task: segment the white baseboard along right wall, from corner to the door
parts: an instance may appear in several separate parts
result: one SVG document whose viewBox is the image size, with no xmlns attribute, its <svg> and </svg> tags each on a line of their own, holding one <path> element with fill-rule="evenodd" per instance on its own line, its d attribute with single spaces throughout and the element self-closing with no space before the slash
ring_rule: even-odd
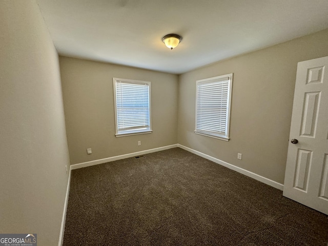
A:
<svg viewBox="0 0 328 246">
<path fill-rule="evenodd" d="M 232 165 L 232 164 L 230 164 L 230 163 L 228 163 L 226 161 L 219 160 L 217 158 L 214 158 L 214 157 L 209 156 L 207 154 L 204 154 L 204 153 L 201 153 L 199 151 L 193 150 L 193 149 L 188 148 L 186 146 L 183 146 L 183 145 L 179 145 L 178 144 L 177 147 L 179 147 L 179 148 L 181 148 L 183 150 L 187 150 L 187 151 L 189 151 L 189 152 L 191 152 L 193 154 L 199 155 L 199 156 L 201 156 L 203 158 L 206 158 L 208 160 L 211 160 L 211 161 L 213 161 L 213 162 L 215 162 L 215 163 L 217 163 L 217 164 L 219 164 L 219 165 L 221 165 L 223 167 L 229 168 L 229 169 L 234 170 L 234 171 L 236 171 L 238 173 L 241 173 L 241 174 L 246 175 L 248 177 L 254 178 L 254 179 L 256 179 L 256 180 L 258 180 L 258 181 L 260 181 L 262 183 L 265 183 L 265 184 L 267 184 L 269 186 L 272 186 L 274 188 L 277 188 L 277 189 L 279 189 L 281 191 L 283 190 L 283 185 L 281 183 L 278 183 L 276 181 L 273 181 L 273 180 L 271 180 L 269 178 L 265 178 L 263 176 L 260 176 L 260 175 L 258 175 L 256 173 L 253 173 L 253 172 L 250 172 L 250 171 L 245 170 L 243 168 L 239 168 L 239 167 L 234 166 L 234 165 Z"/>
</svg>

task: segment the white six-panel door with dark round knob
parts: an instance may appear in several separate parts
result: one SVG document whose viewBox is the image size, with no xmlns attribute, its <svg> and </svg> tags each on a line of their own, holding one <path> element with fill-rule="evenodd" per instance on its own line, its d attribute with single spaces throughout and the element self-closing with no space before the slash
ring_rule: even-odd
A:
<svg viewBox="0 0 328 246">
<path fill-rule="evenodd" d="M 328 56 L 297 65 L 283 195 L 328 214 Z"/>
</svg>

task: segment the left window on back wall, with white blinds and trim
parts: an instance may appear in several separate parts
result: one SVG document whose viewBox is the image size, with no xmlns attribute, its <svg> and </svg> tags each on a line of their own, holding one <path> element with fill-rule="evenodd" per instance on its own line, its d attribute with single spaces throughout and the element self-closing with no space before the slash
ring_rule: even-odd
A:
<svg viewBox="0 0 328 246">
<path fill-rule="evenodd" d="M 113 78 L 116 137 L 151 133 L 150 82 Z"/>
</svg>

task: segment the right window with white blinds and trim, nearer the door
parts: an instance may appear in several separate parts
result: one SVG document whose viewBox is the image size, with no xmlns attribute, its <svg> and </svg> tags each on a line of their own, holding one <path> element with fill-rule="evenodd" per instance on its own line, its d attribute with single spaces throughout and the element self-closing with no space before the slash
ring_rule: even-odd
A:
<svg viewBox="0 0 328 246">
<path fill-rule="evenodd" d="M 232 73 L 196 81 L 195 133 L 229 141 Z"/>
</svg>

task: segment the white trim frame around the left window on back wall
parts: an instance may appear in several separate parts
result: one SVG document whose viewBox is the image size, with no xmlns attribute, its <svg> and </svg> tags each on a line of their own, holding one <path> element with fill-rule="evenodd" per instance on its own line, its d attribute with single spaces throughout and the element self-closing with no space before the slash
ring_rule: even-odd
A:
<svg viewBox="0 0 328 246">
<path fill-rule="evenodd" d="M 117 81 L 125 81 L 132 84 L 147 84 L 149 86 L 149 129 L 145 130 L 127 130 L 127 131 L 118 131 L 117 125 L 117 104 L 116 104 L 116 82 Z M 114 89 L 114 110 L 115 110 L 115 136 L 116 137 L 124 137 L 124 136 L 132 136 L 139 134 L 149 134 L 152 133 L 152 120 L 151 120 L 151 83 L 149 81 L 141 81 L 135 79 L 125 79 L 125 78 L 113 78 L 113 89 Z"/>
</svg>

